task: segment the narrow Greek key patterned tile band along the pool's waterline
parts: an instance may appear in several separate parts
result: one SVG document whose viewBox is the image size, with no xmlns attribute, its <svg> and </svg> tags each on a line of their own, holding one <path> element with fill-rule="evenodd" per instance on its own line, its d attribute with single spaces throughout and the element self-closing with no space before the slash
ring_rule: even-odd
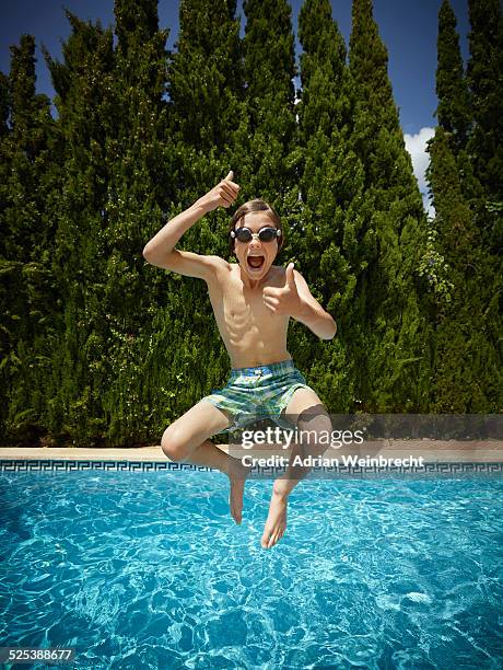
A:
<svg viewBox="0 0 503 670">
<path fill-rule="evenodd" d="M 85 460 L 67 460 L 67 459 L 4 459 L 0 460 L 0 472 L 27 472 L 27 471 L 50 471 L 50 472 L 69 472 L 80 470 L 107 470 L 107 471 L 128 471 L 128 472 L 151 472 L 159 470 L 168 470 L 174 472 L 180 471 L 199 471 L 199 472 L 215 472 L 211 467 L 203 465 L 192 465 L 190 463 L 172 463 L 169 461 L 85 461 Z M 284 472 L 281 467 L 254 467 L 252 477 L 273 477 Z M 387 466 L 339 466 L 331 467 L 314 467 L 312 476 L 316 478 L 343 478 L 343 477 L 361 477 L 369 478 L 373 476 L 453 476 L 453 475 L 503 475 L 503 462 L 501 463 L 425 463 L 422 467 L 412 466 L 405 467 L 403 465 L 387 465 Z"/>
</svg>

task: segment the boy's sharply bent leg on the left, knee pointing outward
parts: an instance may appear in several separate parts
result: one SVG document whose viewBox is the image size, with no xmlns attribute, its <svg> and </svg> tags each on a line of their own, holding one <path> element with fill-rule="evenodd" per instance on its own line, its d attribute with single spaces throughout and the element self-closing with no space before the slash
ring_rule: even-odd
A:
<svg viewBox="0 0 503 670">
<path fill-rule="evenodd" d="M 231 515 L 241 523 L 243 492 L 247 469 L 210 442 L 209 438 L 230 425 L 229 417 L 207 401 L 201 401 L 166 428 L 161 440 L 164 453 L 172 461 L 214 467 L 225 473 L 231 483 Z"/>
</svg>

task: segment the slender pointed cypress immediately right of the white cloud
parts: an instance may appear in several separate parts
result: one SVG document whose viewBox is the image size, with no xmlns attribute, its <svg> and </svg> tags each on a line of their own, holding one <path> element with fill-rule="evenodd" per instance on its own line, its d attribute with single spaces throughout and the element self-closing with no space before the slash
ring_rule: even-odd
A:
<svg viewBox="0 0 503 670">
<path fill-rule="evenodd" d="M 438 127 L 429 142 L 426 173 L 435 218 L 422 268 L 435 287 L 432 408 L 493 412 L 501 398 L 501 365 L 494 346 L 499 291 L 493 292 L 500 279 L 488 273 L 492 264 L 483 250 L 477 206 L 465 197 L 473 180 L 464 147 L 469 109 L 456 22 L 447 2 L 438 15 L 437 44 Z"/>
</svg>

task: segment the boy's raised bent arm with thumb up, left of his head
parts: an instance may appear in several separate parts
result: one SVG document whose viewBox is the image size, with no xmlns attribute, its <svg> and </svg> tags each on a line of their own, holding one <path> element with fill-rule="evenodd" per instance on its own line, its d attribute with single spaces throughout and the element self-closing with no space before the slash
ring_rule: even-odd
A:
<svg viewBox="0 0 503 670">
<path fill-rule="evenodd" d="M 232 181 L 231 171 L 214 188 L 209 190 L 191 207 L 168 221 L 143 249 L 143 257 L 148 263 L 174 270 L 188 277 L 209 279 L 222 258 L 218 256 L 201 256 L 190 252 L 178 251 L 175 245 L 182 235 L 199 221 L 206 213 L 217 207 L 230 207 L 237 197 L 239 186 Z"/>
</svg>

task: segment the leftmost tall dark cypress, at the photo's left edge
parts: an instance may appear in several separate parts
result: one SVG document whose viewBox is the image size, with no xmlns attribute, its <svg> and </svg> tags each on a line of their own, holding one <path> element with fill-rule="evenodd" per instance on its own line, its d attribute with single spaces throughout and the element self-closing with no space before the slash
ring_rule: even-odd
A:
<svg viewBox="0 0 503 670">
<path fill-rule="evenodd" d="M 55 160 L 49 101 L 35 90 L 35 39 L 11 47 L 1 81 L 0 421 L 4 440 L 44 432 L 46 377 L 54 339 L 54 228 L 48 213 Z"/>
</svg>

